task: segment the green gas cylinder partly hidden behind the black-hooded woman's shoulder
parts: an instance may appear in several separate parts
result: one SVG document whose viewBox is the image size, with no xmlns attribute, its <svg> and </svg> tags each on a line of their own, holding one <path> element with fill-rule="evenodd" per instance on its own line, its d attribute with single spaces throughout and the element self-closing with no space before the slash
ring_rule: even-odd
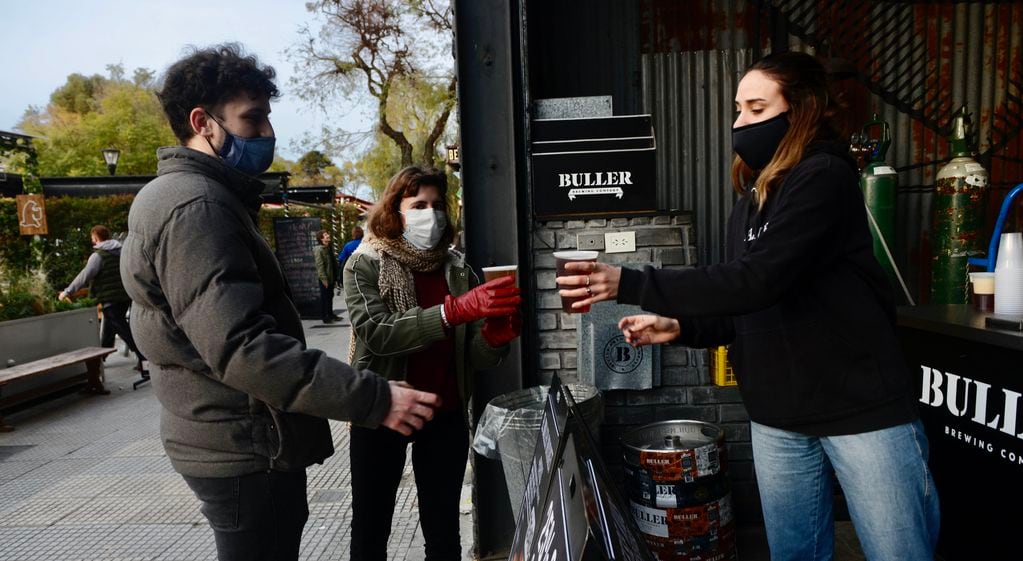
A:
<svg viewBox="0 0 1023 561">
<path fill-rule="evenodd" d="M 874 236 L 874 257 L 895 282 L 895 270 L 891 254 L 895 247 L 895 195 L 898 190 L 898 174 L 895 168 L 885 162 L 888 147 L 892 143 L 888 123 L 879 119 L 878 114 L 863 125 L 858 135 L 861 152 L 865 160 L 859 174 L 859 188 L 863 190 L 863 202 L 871 216 L 871 234 Z"/>
</svg>

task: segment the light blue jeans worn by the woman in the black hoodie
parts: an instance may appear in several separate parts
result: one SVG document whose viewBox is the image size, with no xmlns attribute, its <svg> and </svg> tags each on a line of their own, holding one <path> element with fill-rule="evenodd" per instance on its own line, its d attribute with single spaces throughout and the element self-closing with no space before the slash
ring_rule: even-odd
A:
<svg viewBox="0 0 1023 561">
<path fill-rule="evenodd" d="M 833 470 L 866 559 L 934 559 L 938 495 L 920 421 L 819 437 L 750 425 L 772 561 L 833 558 Z"/>
</svg>

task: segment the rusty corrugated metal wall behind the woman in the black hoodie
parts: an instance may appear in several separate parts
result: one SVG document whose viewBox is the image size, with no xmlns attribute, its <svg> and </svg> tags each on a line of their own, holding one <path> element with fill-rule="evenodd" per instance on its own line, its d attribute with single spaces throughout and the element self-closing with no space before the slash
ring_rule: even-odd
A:
<svg viewBox="0 0 1023 561">
<path fill-rule="evenodd" d="M 930 191 L 954 109 L 973 113 L 992 209 L 1023 181 L 1023 3 L 781 0 L 759 12 L 756 4 L 642 2 L 642 98 L 655 116 L 662 202 L 696 211 L 702 263 L 723 257 L 731 99 L 757 47 L 770 51 L 762 30 L 781 21 L 789 48 L 854 69 L 853 122 L 878 112 L 890 123 L 888 160 L 901 185 L 896 258 L 914 292 L 926 294 Z"/>
</svg>

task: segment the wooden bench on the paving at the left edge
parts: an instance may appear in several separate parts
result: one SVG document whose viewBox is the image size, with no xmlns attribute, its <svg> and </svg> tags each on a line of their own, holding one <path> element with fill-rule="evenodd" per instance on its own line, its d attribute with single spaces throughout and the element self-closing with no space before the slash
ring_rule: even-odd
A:
<svg viewBox="0 0 1023 561">
<path fill-rule="evenodd" d="M 0 370 L 0 398 L 3 397 L 4 386 L 10 382 L 33 378 L 82 362 L 85 363 L 85 374 L 18 394 L 17 401 L 25 401 L 57 389 L 71 387 L 81 383 L 83 380 L 85 381 L 85 388 L 82 390 L 82 393 L 95 395 L 108 394 L 110 392 L 103 387 L 103 358 L 116 350 L 106 347 L 85 347 Z M 3 399 L 0 399 L 0 405 L 6 404 L 9 403 L 5 403 Z M 12 430 L 14 430 L 14 427 L 5 424 L 3 422 L 3 415 L 0 413 L 0 432 L 10 432 Z"/>
</svg>

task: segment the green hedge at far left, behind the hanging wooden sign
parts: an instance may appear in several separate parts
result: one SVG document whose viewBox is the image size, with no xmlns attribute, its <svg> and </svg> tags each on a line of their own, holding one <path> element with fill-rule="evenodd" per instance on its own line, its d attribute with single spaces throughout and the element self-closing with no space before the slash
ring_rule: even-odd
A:
<svg viewBox="0 0 1023 561">
<path fill-rule="evenodd" d="M 49 234 L 20 235 L 13 199 L 0 199 L 0 284 L 41 271 L 40 285 L 59 292 L 75 278 L 92 253 L 89 229 L 103 224 L 114 235 L 128 230 L 131 196 L 46 200 Z"/>
</svg>

